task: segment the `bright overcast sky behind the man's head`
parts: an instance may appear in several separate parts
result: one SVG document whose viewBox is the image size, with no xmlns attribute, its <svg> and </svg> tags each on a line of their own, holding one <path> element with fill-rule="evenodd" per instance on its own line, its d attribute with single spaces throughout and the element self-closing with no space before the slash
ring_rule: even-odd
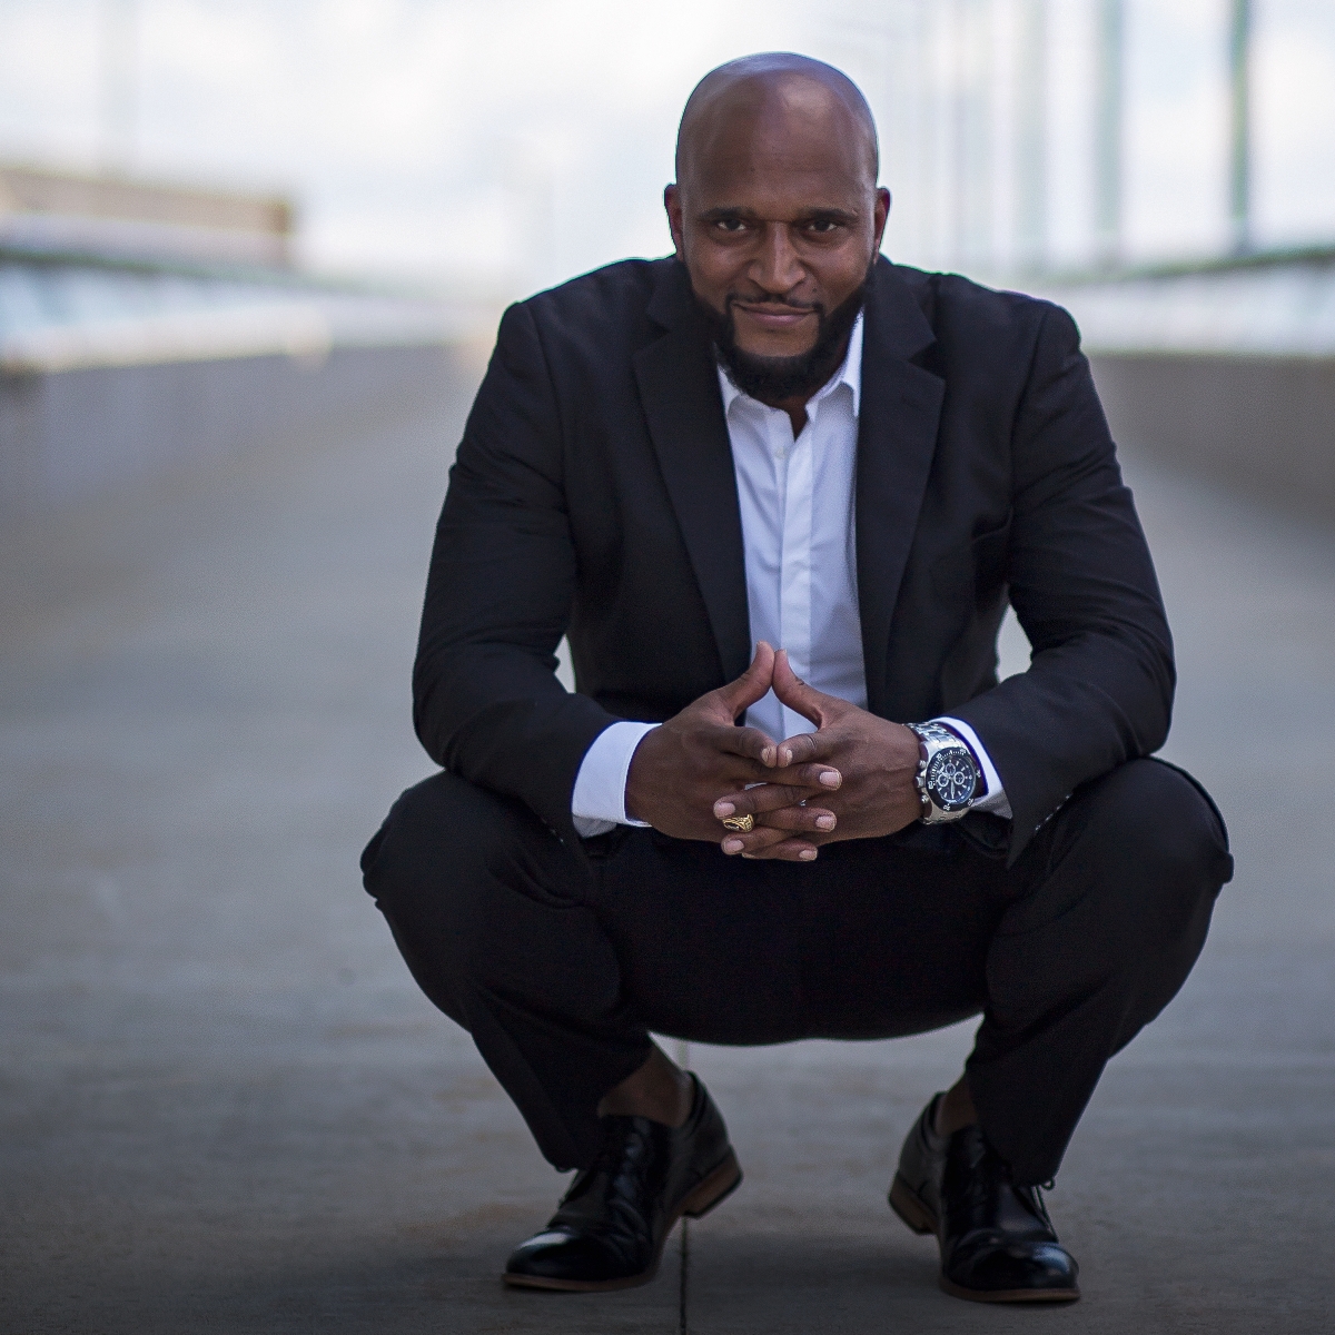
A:
<svg viewBox="0 0 1335 1335">
<path fill-rule="evenodd" d="M 1013 108 L 1033 77 L 1025 3 L 0 0 L 0 158 L 87 167 L 109 152 L 150 176 L 290 191 L 312 264 L 511 296 L 669 250 L 659 196 L 682 101 L 714 64 L 786 48 L 846 69 L 877 112 L 888 252 L 977 270 L 991 255 L 995 270 L 1013 248 Z M 1077 264 L 1096 0 L 1047 9 L 1047 248 Z M 1258 238 L 1335 242 L 1335 0 L 1255 9 Z M 1227 11 L 1127 0 L 1131 258 L 1227 242 Z M 116 15 L 134 17 L 131 143 L 103 109 Z M 976 206 L 963 224 L 961 152 Z"/>
</svg>

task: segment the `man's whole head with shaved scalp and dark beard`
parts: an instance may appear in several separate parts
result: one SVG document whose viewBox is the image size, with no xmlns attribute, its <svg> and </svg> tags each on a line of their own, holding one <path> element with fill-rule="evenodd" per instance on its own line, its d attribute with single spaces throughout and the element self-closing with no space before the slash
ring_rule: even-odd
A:
<svg viewBox="0 0 1335 1335">
<path fill-rule="evenodd" d="M 801 400 L 842 358 L 890 207 L 876 175 L 872 112 L 818 60 L 746 56 L 690 95 L 668 223 L 729 374 L 762 402 Z"/>
</svg>

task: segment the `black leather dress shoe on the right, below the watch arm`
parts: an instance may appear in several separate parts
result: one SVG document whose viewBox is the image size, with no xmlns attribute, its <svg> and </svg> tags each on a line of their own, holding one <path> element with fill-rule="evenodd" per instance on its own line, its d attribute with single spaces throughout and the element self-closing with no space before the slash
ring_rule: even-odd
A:
<svg viewBox="0 0 1335 1335">
<path fill-rule="evenodd" d="M 983 1128 L 936 1133 L 937 1095 L 904 1141 L 890 1208 L 936 1234 L 941 1288 L 977 1303 L 1071 1303 L 1080 1267 L 1057 1242 L 1037 1187 L 1016 1187 Z"/>
</svg>

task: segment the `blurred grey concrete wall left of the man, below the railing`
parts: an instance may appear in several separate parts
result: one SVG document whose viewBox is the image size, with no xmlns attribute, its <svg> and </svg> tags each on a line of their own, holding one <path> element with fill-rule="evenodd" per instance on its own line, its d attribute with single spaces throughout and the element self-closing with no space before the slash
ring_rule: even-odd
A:
<svg viewBox="0 0 1335 1335">
<path fill-rule="evenodd" d="M 0 521 L 451 391 L 442 347 L 0 376 Z M 449 442 L 454 445 L 454 442 Z"/>
</svg>

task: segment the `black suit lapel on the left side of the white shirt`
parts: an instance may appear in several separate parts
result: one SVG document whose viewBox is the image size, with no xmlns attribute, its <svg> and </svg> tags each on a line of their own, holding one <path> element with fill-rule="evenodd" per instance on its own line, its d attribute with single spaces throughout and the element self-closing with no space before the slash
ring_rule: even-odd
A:
<svg viewBox="0 0 1335 1335">
<path fill-rule="evenodd" d="M 742 519 L 709 332 L 681 264 L 665 271 L 649 315 L 669 327 L 634 354 L 639 399 L 724 680 L 732 681 L 750 662 Z"/>
</svg>

